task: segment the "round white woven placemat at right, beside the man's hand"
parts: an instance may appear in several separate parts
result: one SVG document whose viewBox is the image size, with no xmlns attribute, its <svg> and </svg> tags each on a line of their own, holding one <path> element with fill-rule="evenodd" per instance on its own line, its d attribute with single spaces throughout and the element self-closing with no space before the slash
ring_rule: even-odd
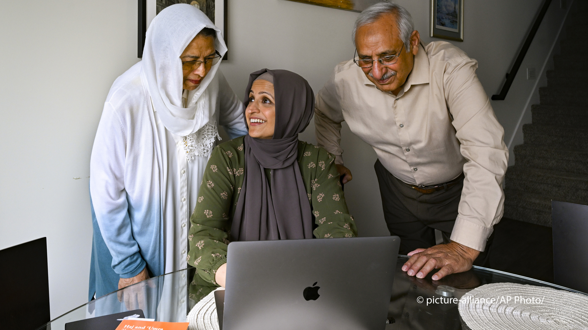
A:
<svg viewBox="0 0 588 330">
<path fill-rule="evenodd" d="M 588 296 L 514 283 L 486 284 L 459 301 L 471 330 L 588 330 Z"/>
</svg>

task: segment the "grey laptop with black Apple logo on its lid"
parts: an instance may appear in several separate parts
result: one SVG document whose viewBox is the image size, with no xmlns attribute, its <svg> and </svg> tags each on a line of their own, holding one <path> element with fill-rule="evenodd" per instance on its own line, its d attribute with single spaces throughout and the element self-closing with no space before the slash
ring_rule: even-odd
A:
<svg viewBox="0 0 588 330">
<path fill-rule="evenodd" d="M 223 330 L 383 330 L 400 238 L 229 244 Z"/>
</svg>

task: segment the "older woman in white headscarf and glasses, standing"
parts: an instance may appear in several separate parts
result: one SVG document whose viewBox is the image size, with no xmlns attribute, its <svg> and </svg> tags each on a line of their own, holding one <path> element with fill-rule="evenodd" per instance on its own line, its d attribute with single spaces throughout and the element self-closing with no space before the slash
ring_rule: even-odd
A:
<svg viewBox="0 0 588 330">
<path fill-rule="evenodd" d="M 113 83 L 90 164 L 89 298 L 186 268 L 189 217 L 217 125 L 247 133 L 242 103 L 219 70 L 226 46 L 194 6 L 153 19 L 143 60 Z"/>
</svg>

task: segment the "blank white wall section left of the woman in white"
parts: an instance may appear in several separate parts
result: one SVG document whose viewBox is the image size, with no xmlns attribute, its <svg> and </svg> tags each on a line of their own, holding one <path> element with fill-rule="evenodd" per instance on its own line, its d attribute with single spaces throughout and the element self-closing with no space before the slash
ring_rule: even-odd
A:
<svg viewBox="0 0 588 330">
<path fill-rule="evenodd" d="M 88 299 L 90 151 L 136 22 L 136 0 L 2 1 L 0 249 L 47 237 L 52 318 Z"/>
</svg>

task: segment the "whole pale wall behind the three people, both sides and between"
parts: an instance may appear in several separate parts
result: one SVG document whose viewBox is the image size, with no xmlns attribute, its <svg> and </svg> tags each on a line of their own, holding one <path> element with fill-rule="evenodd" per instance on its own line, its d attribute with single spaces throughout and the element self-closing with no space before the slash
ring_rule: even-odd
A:
<svg viewBox="0 0 588 330">
<path fill-rule="evenodd" d="M 479 60 L 489 95 L 499 92 L 540 2 L 466 2 L 466 41 L 455 44 Z M 423 41 L 432 41 L 429 0 L 398 3 Z M 240 97 L 249 73 L 261 68 L 293 70 L 318 92 L 336 63 L 351 58 L 357 15 L 285 0 L 229 0 L 223 72 Z M 89 156 L 109 87 L 138 60 L 136 17 L 135 0 L 2 2 L 0 249 L 48 238 L 52 318 L 87 299 Z M 520 111 L 497 115 L 506 128 Z M 301 138 L 315 142 L 313 125 Z M 360 234 L 385 235 L 375 153 L 346 126 L 342 144 L 354 175 L 346 197 Z"/>
</svg>

